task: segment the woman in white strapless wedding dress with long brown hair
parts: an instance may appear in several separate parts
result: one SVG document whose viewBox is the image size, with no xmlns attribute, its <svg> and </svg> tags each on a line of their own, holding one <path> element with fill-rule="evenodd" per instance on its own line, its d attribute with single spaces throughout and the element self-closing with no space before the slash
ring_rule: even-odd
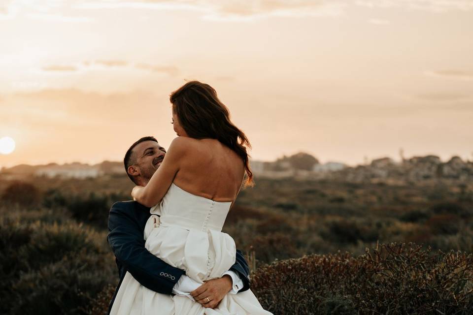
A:
<svg viewBox="0 0 473 315">
<path fill-rule="evenodd" d="M 170 102 L 178 137 L 146 187 L 136 186 L 132 196 L 154 206 L 145 226 L 146 249 L 203 284 L 235 263 L 235 242 L 221 230 L 245 173 L 244 185 L 252 184 L 250 143 L 209 85 L 188 82 Z M 271 315 L 251 290 L 227 294 L 215 309 L 203 306 L 213 298 L 207 294 L 157 293 L 127 272 L 110 314 Z"/>
</svg>

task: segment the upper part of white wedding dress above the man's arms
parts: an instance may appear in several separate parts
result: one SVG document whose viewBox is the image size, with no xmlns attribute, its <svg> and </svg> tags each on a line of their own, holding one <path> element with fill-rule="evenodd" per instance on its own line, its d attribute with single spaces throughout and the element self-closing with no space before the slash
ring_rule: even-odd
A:
<svg viewBox="0 0 473 315">
<path fill-rule="evenodd" d="M 222 277 L 236 259 L 235 241 L 222 232 L 231 205 L 172 183 L 163 200 L 150 209 L 144 228 L 146 249 L 196 281 Z"/>
</svg>

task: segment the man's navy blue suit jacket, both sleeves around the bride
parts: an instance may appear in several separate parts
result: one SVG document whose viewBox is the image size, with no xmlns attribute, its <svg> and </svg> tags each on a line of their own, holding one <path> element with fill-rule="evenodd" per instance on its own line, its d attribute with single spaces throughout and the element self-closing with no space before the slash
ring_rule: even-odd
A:
<svg viewBox="0 0 473 315">
<path fill-rule="evenodd" d="M 127 271 L 140 284 L 163 294 L 172 294 L 172 288 L 185 274 L 183 270 L 170 266 L 144 247 L 144 226 L 149 217 L 149 208 L 136 201 L 116 202 L 110 209 L 107 241 L 115 254 L 120 282 L 113 294 L 108 313 Z M 236 262 L 230 270 L 236 272 L 243 281 L 240 291 L 249 289 L 248 264 L 238 250 Z M 174 276 L 174 280 L 170 276 L 162 276 L 163 274 Z"/>
</svg>

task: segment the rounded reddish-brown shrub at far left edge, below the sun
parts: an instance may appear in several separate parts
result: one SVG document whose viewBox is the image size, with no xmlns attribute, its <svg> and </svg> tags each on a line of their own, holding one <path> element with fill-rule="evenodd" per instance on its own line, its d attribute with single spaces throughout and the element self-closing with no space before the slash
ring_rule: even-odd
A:
<svg viewBox="0 0 473 315">
<path fill-rule="evenodd" d="M 25 207 L 37 205 L 41 194 L 33 184 L 24 182 L 12 182 L 3 191 L 1 199 L 5 202 L 18 204 Z"/>
</svg>

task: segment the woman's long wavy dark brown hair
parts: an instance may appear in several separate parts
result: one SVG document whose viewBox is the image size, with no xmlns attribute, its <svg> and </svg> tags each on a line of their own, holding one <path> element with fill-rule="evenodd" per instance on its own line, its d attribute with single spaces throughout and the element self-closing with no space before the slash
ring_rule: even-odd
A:
<svg viewBox="0 0 473 315">
<path fill-rule="evenodd" d="M 230 120 L 228 108 L 218 99 L 215 89 L 199 81 L 190 81 L 172 92 L 169 100 L 172 112 L 189 137 L 217 139 L 243 159 L 247 175 L 245 186 L 252 185 L 253 172 L 246 152 L 251 144 Z"/>
</svg>

